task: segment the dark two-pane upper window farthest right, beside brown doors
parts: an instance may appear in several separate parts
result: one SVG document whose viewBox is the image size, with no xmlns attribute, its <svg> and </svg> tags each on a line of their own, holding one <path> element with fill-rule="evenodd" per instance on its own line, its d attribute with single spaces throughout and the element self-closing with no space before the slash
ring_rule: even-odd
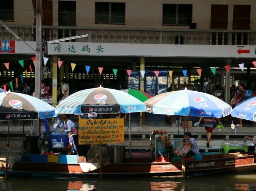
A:
<svg viewBox="0 0 256 191">
<path fill-rule="evenodd" d="M 163 25 L 190 25 L 191 4 L 163 4 Z"/>
</svg>

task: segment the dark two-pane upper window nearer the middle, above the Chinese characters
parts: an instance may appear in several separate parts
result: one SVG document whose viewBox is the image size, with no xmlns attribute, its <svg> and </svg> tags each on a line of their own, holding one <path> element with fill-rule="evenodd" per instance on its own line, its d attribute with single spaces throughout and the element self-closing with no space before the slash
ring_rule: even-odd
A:
<svg viewBox="0 0 256 191">
<path fill-rule="evenodd" d="M 95 2 L 96 24 L 125 24 L 125 3 Z"/>
</svg>

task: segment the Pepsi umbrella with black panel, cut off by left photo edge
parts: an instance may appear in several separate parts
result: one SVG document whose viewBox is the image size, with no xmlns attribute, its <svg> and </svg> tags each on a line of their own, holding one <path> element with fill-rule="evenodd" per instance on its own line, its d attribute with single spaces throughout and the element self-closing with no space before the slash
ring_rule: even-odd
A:
<svg viewBox="0 0 256 191">
<path fill-rule="evenodd" d="M 55 108 L 30 95 L 0 93 L 0 120 L 33 120 L 55 116 Z"/>
</svg>

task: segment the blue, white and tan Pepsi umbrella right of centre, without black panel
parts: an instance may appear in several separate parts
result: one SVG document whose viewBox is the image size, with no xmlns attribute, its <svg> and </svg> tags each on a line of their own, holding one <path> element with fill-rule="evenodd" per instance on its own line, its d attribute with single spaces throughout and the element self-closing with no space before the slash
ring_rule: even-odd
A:
<svg viewBox="0 0 256 191">
<path fill-rule="evenodd" d="M 219 98 L 187 89 L 162 93 L 144 103 L 146 112 L 154 114 L 221 118 L 232 112 L 232 107 Z"/>
</svg>

